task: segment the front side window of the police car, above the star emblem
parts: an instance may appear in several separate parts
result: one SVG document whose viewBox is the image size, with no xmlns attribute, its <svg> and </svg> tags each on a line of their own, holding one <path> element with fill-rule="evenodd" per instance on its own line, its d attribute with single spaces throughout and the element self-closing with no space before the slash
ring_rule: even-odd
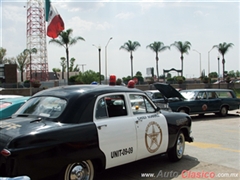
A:
<svg viewBox="0 0 240 180">
<path fill-rule="evenodd" d="M 138 94 L 129 95 L 133 114 L 153 113 L 155 108 L 145 96 Z"/>
</svg>

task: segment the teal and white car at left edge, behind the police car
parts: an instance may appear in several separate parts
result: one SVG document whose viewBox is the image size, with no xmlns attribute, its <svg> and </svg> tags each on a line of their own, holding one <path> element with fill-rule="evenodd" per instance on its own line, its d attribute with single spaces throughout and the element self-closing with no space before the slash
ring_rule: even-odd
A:
<svg viewBox="0 0 240 180">
<path fill-rule="evenodd" d="M 31 96 L 8 98 L 0 100 L 0 120 L 14 114 Z"/>
</svg>

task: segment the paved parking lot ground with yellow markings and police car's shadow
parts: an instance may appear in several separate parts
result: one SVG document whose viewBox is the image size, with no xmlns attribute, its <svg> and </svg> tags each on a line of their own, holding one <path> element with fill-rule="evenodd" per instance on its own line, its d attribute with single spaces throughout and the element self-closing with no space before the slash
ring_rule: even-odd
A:
<svg viewBox="0 0 240 180">
<path fill-rule="evenodd" d="M 172 163 L 156 156 L 97 174 L 95 180 L 155 179 L 240 179 L 240 114 L 227 117 L 207 114 L 192 116 L 193 143 L 186 143 L 185 155 Z"/>
</svg>

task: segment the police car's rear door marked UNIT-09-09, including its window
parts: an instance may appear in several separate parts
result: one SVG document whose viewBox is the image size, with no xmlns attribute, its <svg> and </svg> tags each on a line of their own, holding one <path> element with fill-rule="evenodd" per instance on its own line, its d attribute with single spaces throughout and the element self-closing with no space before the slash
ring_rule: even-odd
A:
<svg viewBox="0 0 240 180">
<path fill-rule="evenodd" d="M 124 93 L 106 94 L 98 97 L 95 104 L 94 122 L 106 168 L 136 160 L 135 121 L 129 115 L 125 96 Z"/>
</svg>

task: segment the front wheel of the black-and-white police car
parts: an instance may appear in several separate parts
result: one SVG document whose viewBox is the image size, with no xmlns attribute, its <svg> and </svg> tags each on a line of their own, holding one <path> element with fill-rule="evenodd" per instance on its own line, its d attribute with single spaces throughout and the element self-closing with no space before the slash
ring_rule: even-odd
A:
<svg viewBox="0 0 240 180">
<path fill-rule="evenodd" d="M 185 137 L 182 131 L 179 132 L 173 148 L 168 151 L 170 161 L 179 161 L 183 157 L 185 149 Z"/>
</svg>

